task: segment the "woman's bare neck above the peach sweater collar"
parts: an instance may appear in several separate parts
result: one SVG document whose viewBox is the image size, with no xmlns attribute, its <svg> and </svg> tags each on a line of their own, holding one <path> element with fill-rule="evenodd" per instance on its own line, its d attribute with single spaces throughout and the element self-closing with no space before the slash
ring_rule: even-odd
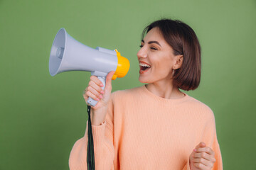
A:
<svg viewBox="0 0 256 170">
<path fill-rule="evenodd" d="M 183 98 L 184 94 L 179 91 L 178 86 L 174 85 L 173 80 L 171 81 L 156 81 L 151 84 L 146 84 L 152 94 L 166 99 Z"/>
</svg>

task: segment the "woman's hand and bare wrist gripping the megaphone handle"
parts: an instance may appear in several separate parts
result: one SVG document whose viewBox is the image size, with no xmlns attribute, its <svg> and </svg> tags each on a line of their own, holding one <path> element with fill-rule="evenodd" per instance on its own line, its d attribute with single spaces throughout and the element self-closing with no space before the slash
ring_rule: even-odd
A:
<svg viewBox="0 0 256 170">
<path fill-rule="evenodd" d="M 110 101 L 110 95 L 112 91 L 111 81 L 113 74 L 114 71 L 107 74 L 104 91 L 102 91 L 101 89 L 102 82 L 95 76 L 90 77 L 89 84 L 84 91 L 85 93 L 83 94 L 83 97 L 85 98 L 86 103 L 89 97 L 94 99 L 95 101 L 98 101 L 95 106 L 91 106 L 92 125 L 100 125 L 105 120 L 105 117 L 107 115 L 108 103 Z"/>
</svg>

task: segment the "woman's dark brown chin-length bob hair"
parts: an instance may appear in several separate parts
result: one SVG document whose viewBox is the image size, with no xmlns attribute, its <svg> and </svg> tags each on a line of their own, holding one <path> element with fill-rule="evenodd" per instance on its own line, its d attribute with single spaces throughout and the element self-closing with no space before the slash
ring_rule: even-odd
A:
<svg viewBox="0 0 256 170">
<path fill-rule="evenodd" d="M 174 70 L 174 83 L 185 91 L 196 89 L 201 79 L 201 46 L 196 33 L 182 21 L 163 18 L 144 28 L 142 40 L 145 33 L 155 27 L 172 47 L 174 55 L 183 55 L 181 68 Z"/>
</svg>

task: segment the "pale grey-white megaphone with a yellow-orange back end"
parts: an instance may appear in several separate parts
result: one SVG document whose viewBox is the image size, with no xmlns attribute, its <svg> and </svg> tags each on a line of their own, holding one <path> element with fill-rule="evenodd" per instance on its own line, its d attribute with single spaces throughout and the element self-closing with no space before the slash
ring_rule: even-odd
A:
<svg viewBox="0 0 256 170">
<path fill-rule="evenodd" d="M 98 77 L 105 89 L 106 76 L 115 71 L 112 79 L 124 77 L 129 71 L 129 60 L 117 50 L 102 47 L 88 47 L 72 38 L 64 28 L 55 35 L 50 50 L 49 71 L 51 76 L 60 72 L 86 71 Z M 88 104 L 95 106 L 97 101 L 88 98 Z"/>
</svg>

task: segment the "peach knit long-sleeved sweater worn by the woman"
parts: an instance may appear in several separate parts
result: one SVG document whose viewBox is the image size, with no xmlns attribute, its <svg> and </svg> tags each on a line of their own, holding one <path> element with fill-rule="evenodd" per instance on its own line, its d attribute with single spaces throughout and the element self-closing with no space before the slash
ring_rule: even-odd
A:
<svg viewBox="0 0 256 170">
<path fill-rule="evenodd" d="M 189 170 L 189 156 L 200 142 L 215 152 L 213 170 L 223 169 L 213 111 L 188 94 L 166 99 L 145 86 L 115 91 L 105 121 L 92 125 L 92 135 L 97 170 Z M 69 166 L 87 169 L 87 126 Z"/>
</svg>

